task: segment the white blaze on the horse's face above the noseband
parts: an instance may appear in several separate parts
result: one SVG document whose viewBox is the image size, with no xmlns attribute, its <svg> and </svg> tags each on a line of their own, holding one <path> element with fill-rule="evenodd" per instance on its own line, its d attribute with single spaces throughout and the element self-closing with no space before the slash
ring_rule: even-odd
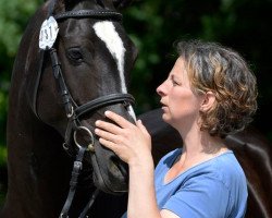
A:
<svg viewBox="0 0 272 218">
<path fill-rule="evenodd" d="M 125 48 L 112 22 L 101 21 L 94 25 L 96 35 L 106 44 L 118 64 L 122 93 L 127 93 L 124 77 Z"/>
</svg>

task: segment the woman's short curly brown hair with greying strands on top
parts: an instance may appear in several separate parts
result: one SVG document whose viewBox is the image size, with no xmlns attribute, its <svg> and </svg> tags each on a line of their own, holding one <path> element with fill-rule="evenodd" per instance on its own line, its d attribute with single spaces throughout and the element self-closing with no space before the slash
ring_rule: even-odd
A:
<svg viewBox="0 0 272 218">
<path fill-rule="evenodd" d="M 215 95 L 213 107 L 200 112 L 201 130 L 220 137 L 244 130 L 257 110 L 257 82 L 246 61 L 215 43 L 177 41 L 175 46 L 193 89 Z"/>
</svg>

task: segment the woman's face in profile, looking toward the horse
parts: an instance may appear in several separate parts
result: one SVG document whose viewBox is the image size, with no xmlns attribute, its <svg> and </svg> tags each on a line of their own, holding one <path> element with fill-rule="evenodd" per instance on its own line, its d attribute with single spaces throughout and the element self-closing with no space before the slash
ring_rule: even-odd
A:
<svg viewBox="0 0 272 218">
<path fill-rule="evenodd" d="M 190 129 L 197 124 L 203 95 L 195 94 L 190 87 L 184 60 L 178 58 L 168 78 L 157 88 L 161 96 L 162 119 L 175 129 Z"/>
</svg>

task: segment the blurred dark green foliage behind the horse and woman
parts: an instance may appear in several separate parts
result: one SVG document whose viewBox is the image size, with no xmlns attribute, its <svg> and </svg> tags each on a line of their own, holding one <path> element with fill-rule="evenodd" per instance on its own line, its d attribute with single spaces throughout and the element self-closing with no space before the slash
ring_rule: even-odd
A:
<svg viewBox="0 0 272 218">
<path fill-rule="evenodd" d="M 0 0 L 0 202 L 7 190 L 5 123 L 10 77 L 28 19 L 41 0 Z M 259 84 L 254 125 L 272 141 L 272 1 L 271 0 L 135 0 L 123 11 L 124 25 L 139 55 L 131 93 L 141 113 L 158 107 L 156 87 L 173 65 L 176 39 L 215 40 L 239 51 Z"/>
</svg>

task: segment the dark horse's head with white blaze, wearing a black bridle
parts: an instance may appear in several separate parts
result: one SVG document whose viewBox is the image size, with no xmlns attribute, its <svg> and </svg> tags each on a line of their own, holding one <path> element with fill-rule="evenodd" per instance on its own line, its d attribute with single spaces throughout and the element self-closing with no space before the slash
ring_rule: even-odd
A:
<svg viewBox="0 0 272 218">
<path fill-rule="evenodd" d="M 132 122 L 135 120 L 127 84 L 137 52 L 123 28 L 121 14 L 116 13 L 116 8 L 125 3 L 127 1 L 47 2 L 37 26 L 50 15 L 57 20 L 59 33 L 54 49 L 39 51 L 36 36 L 32 41 L 36 58 L 29 60 L 29 64 L 39 62 L 28 85 L 33 112 L 62 135 L 64 148 L 73 156 L 78 147 L 91 144 L 85 153 L 84 166 L 94 169 L 96 186 L 109 193 L 127 190 L 127 167 L 99 144 L 94 123 L 106 119 L 106 110 Z M 48 15 L 50 10 L 52 14 Z M 55 59 L 51 61 L 52 57 Z M 52 65 L 57 65 L 54 72 Z"/>
</svg>

